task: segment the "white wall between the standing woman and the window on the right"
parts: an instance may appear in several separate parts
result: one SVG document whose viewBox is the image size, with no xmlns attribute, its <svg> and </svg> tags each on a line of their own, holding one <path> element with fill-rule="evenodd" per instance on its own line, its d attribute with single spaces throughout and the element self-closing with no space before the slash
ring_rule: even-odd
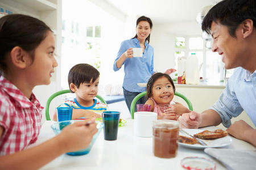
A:
<svg viewBox="0 0 256 170">
<path fill-rule="evenodd" d="M 150 44 L 155 50 L 155 70 L 164 72 L 175 67 L 175 37 L 200 36 L 202 33 L 197 22 L 177 22 L 154 24 L 150 36 Z"/>
</svg>

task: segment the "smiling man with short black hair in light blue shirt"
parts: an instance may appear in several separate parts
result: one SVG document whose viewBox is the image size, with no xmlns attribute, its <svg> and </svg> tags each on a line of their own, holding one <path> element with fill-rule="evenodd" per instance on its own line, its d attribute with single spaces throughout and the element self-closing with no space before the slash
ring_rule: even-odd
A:
<svg viewBox="0 0 256 170">
<path fill-rule="evenodd" d="M 256 125 L 256 1 L 224 0 L 213 6 L 202 23 L 213 37 L 212 51 L 234 73 L 218 101 L 207 111 L 184 113 L 181 126 L 199 128 L 222 124 L 229 134 L 256 146 L 256 129 L 231 118 L 245 111 Z"/>
</svg>

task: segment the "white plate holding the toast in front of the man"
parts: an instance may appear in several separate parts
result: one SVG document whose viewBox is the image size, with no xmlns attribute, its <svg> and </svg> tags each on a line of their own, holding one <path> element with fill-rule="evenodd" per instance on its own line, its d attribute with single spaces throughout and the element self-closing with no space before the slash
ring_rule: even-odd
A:
<svg viewBox="0 0 256 170">
<path fill-rule="evenodd" d="M 187 133 L 194 135 L 196 133 L 200 133 L 201 131 L 204 131 L 203 129 L 183 129 L 185 131 L 187 131 Z M 180 132 L 179 135 L 183 135 L 185 137 L 189 137 L 187 134 L 183 134 L 182 132 Z M 232 138 L 230 138 L 229 136 L 223 137 L 223 138 L 218 138 L 218 139 L 212 139 L 212 140 L 203 140 L 205 143 L 207 143 L 207 146 L 203 146 L 200 144 L 187 144 L 187 143 L 181 143 L 179 142 L 180 146 L 184 146 L 184 147 L 190 147 L 190 148 L 196 148 L 196 149 L 203 149 L 203 148 L 207 148 L 207 147 L 224 147 L 224 146 L 228 146 L 232 143 Z"/>
</svg>

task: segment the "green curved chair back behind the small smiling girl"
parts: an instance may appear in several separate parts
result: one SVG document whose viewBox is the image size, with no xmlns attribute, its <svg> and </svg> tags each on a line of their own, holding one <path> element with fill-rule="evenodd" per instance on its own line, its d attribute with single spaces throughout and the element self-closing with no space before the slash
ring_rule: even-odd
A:
<svg viewBox="0 0 256 170">
<path fill-rule="evenodd" d="M 141 92 L 140 94 L 138 94 L 137 96 L 134 97 L 133 101 L 131 101 L 131 118 L 133 119 L 134 118 L 134 109 L 135 109 L 135 104 L 137 103 L 137 101 L 139 99 L 141 99 L 141 97 L 143 96 L 146 96 L 147 95 L 147 92 L 144 91 L 144 92 Z M 179 96 L 181 97 L 182 99 L 185 100 L 185 102 L 188 104 L 188 108 L 189 110 L 193 111 L 193 107 L 192 107 L 192 104 L 191 102 L 187 99 L 187 97 L 185 97 L 183 94 L 179 93 L 179 92 L 175 92 L 174 93 L 175 96 Z"/>
</svg>

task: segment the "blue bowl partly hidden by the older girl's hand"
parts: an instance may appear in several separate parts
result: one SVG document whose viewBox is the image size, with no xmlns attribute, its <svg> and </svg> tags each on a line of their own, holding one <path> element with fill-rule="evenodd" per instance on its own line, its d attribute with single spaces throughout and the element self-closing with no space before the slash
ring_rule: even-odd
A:
<svg viewBox="0 0 256 170">
<path fill-rule="evenodd" d="M 77 122 L 79 120 L 68 120 L 68 121 L 61 121 L 61 122 L 56 122 L 54 124 L 51 125 L 52 130 L 54 131 L 54 133 L 57 135 L 61 132 L 61 130 L 70 124 L 73 124 L 74 122 Z M 97 129 L 98 132 L 96 134 L 94 134 L 93 138 L 92 138 L 92 142 L 90 142 L 90 145 L 82 150 L 79 151 L 75 151 L 75 152 L 68 152 L 68 155 L 72 155 L 72 156 L 77 156 L 77 155 L 85 155 L 88 154 L 90 152 L 90 149 L 93 146 L 93 143 L 96 141 L 98 135 L 100 134 L 102 128 L 104 127 L 104 124 L 102 124 L 102 122 L 96 121 L 97 124 Z"/>
</svg>

